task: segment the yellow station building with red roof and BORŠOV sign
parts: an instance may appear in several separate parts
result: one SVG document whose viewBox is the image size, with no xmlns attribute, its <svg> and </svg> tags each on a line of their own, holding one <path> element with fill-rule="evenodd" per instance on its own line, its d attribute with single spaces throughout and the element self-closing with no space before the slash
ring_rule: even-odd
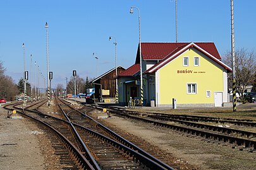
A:
<svg viewBox="0 0 256 170">
<path fill-rule="evenodd" d="M 135 64 L 118 75 L 119 103 L 140 99 L 140 49 Z M 228 72 L 212 42 L 142 43 L 143 105 L 223 106 Z"/>
</svg>

